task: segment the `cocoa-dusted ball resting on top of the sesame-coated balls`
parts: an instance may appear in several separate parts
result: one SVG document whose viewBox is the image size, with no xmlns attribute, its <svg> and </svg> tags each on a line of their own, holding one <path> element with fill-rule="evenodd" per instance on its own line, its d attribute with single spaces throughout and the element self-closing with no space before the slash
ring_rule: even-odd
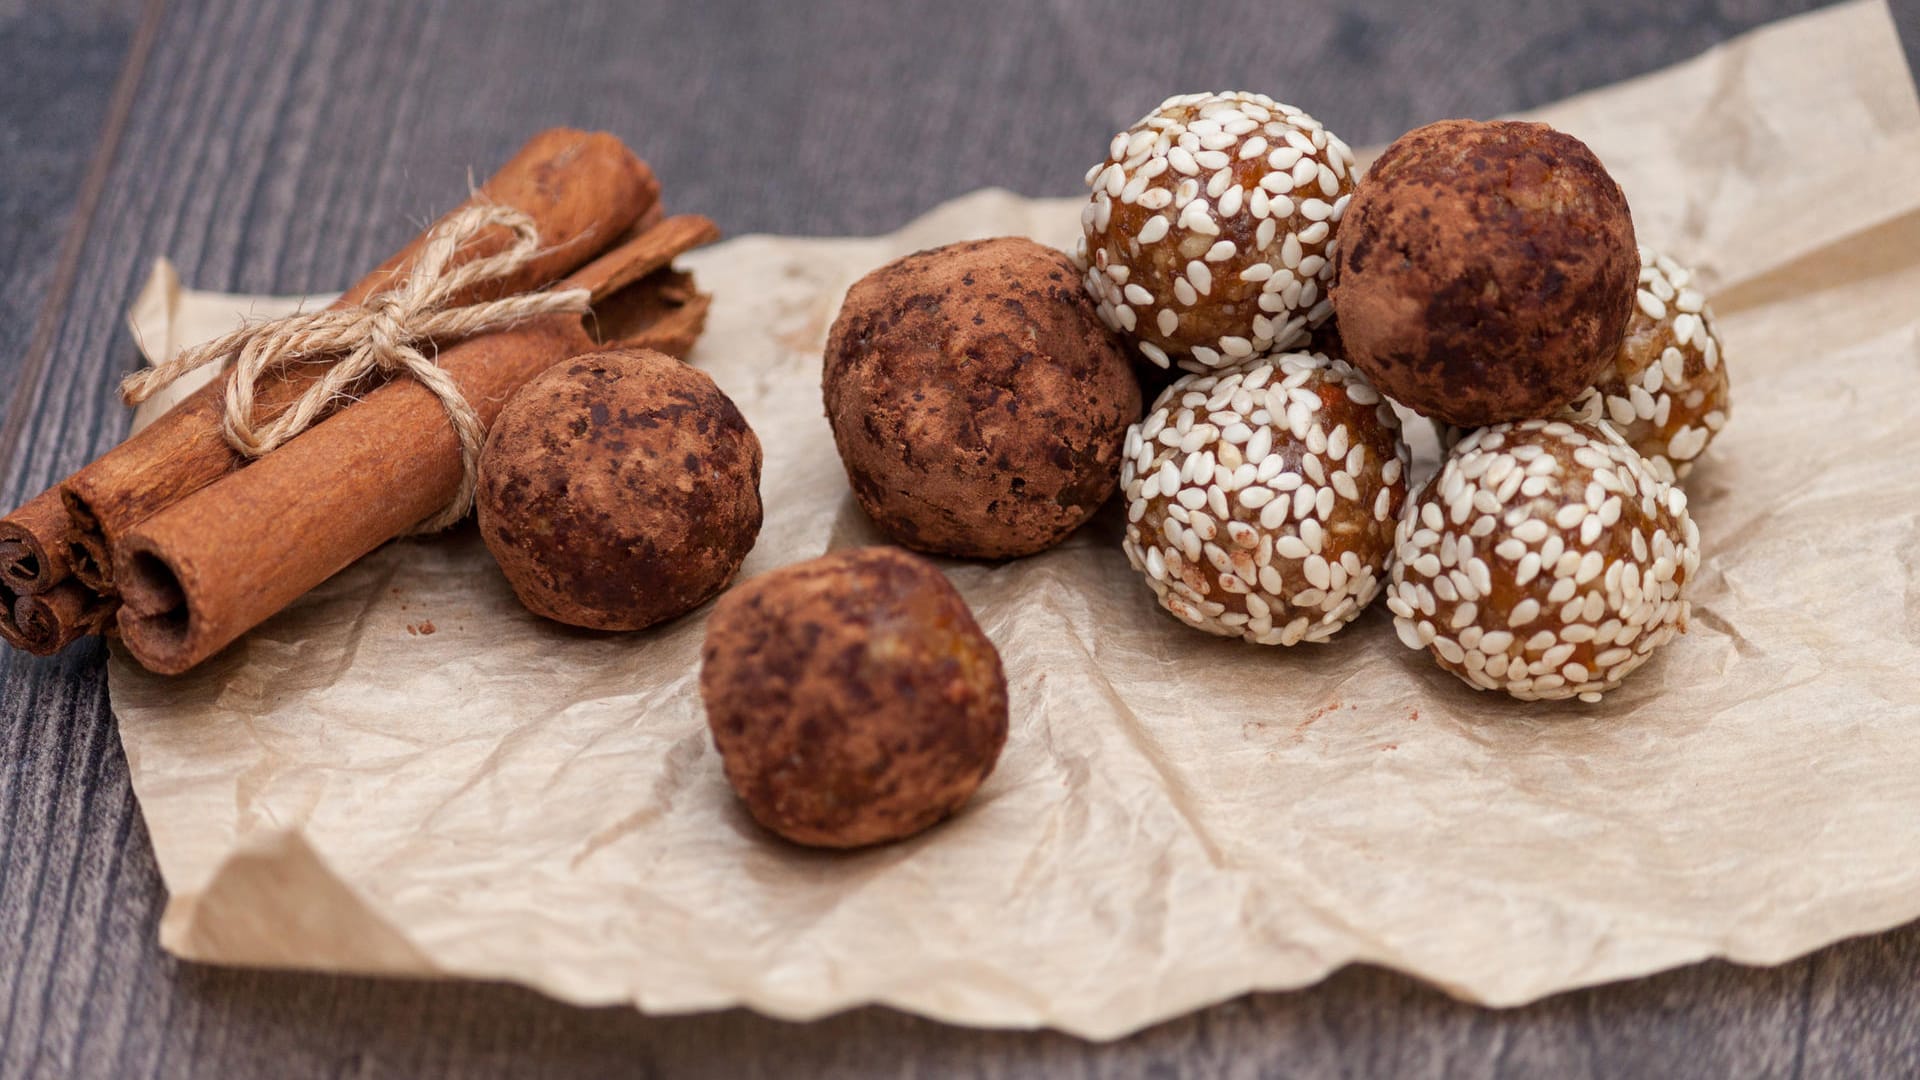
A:
<svg viewBox="0 0 1920 1080">
<path fill-rule="evenodd" d="M 1448 119 L 1380 154 L 1340 227 L 1348 359 L 1457 427 L 1546 417 L 1592 386 L 1634 306 L 1626 196 L 1544 123 Z"/>
</svg>

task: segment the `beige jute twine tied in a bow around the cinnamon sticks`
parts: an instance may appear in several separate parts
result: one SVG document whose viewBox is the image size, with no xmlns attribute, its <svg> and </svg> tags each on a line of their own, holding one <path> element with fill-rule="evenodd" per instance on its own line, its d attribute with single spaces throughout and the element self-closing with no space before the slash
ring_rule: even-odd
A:
<svg viewBox="0 0 1920 1080">
<path fill-rule="evenodd" d="M 511 242 L 493 256 L 457 261 L 488 229 L 501 227 Z M 227 413 L 221 430 L 228 446 L 246 457 L 259 457 L 284 446 L 296 434 L 326 417 L 334 402 L 351 398 L 371 377 L 407 375 L 426 386 L 447 411 L 461 440 L 461 486 L 453 502 L 420 532 L 436 532 L 467 515 L 474 500 L 480 446 L 486 429 L 459 384 L 420 352 L 434 340 L 465 338 L 497 331 L 534 315 L 580 313 L 588 309 L 584 288 L 561 292 L 520 292 L 499 300 L 453 306 L 463 292 L 511 277 L 540 252 L 540 231 L 532 217 L 511 206 L 468 206 L 440 221 L 426 234 L 413 269 L 394 288 L 349 307 L 301 311 L 284 319 L 252 323 L 238 331 L 182 350 L 173 359 L 129 375 L 121 398 L 136 405 L 188 371 L 209 363 L 228 367 Z M 261 379 L 271 379 L 296 363 L 334 359 L 326 371 L 280 415 L 267 423 L 253 417 Z"/>
</svg>

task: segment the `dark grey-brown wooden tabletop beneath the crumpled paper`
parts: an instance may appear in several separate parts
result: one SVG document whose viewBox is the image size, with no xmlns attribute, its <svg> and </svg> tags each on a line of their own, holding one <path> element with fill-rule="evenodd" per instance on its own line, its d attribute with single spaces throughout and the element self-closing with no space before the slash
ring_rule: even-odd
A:
<svg viewBox="0 0 1920 1080">
<path fill-rule="evenodd" d="M 1175 90 L 1260 88 L 1384 142 L 1803 6 L 0 0 L 0 502 L 121 438 L 121 311 L 150 259 L 209 288 L 340 288 L 538 127 L 622 135 L 676 209 L 733 234 L 887 231 L 983 184 L 1077 192 Z M 1920 0 L 1895 8 L 1912 58 Z M 1920 926 L 1503 1013 L 1350 969 L 1112 1045 L 186 965 L 156 945 L 102 655 L 0 655 L 4 1076 L 1920 1074 Z"/>
</svg>

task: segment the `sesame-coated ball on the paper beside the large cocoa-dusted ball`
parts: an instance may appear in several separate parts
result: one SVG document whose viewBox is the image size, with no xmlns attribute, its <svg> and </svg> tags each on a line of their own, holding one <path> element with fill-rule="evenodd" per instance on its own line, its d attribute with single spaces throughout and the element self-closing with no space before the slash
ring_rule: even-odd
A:
<svg viewBox="0 0 1920 1080">
<path fill-rule="evenodd" d="M 1188 375 L 1125 452 L 1127 561 L 1188 626 L 1325 642 L 1380 590 L 1407 444 L 1346 363 L 1284 354 Z"/>
</svg>

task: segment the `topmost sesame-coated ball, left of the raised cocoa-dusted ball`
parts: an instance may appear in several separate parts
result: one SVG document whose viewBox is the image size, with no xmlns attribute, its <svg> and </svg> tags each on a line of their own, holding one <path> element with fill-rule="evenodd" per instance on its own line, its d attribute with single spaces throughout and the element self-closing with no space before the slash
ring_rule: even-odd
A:
<svg viewBox="0 0 1920 1080">
<path fill-rule="evenodd" d="M 1087 292 L 1160 367 L 1298 348 L 1332 313 L 1354 154 L 1294 106 L 1167 98 L 1114 136 L 1087 184 Z"/>
</svg>

